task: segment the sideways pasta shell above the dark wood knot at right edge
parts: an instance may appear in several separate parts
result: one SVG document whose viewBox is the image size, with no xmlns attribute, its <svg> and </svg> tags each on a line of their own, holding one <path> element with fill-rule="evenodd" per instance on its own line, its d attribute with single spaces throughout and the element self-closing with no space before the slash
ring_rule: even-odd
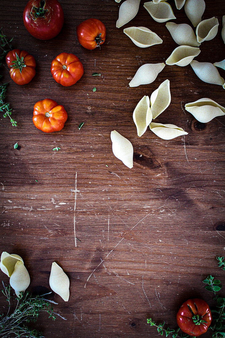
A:
<svg viewBox="0 0 225 338">
<path fill-rule="evenodd" d="M 186 103 L 185 109 L 202 123 L 207 123 L 217 116 L 225 115 L 223 106 L 205 97 L 195 102 Z"/>
</svg>

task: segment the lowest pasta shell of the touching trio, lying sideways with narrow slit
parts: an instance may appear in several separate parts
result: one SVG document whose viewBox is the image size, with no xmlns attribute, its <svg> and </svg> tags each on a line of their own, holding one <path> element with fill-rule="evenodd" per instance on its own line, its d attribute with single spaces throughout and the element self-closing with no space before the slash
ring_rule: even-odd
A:
<svg viewBox="0 0 225 338">
<path fill-rule="evenodd" d="M 171 140 L 181 135 L 188 135 L 188 132 L 174 124 L 150 123 L 150 129 L 155 135 L 163 140 Z"/>
</svg>

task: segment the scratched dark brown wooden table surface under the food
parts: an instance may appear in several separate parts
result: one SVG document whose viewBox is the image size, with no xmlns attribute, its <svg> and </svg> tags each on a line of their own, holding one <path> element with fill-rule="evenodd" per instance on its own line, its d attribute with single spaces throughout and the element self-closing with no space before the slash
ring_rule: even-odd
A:
<svg viewBox="0 0 225 338">
<path fill-rule="evenodd" d="M 27 50 L 37 63 L 35 77 L 25 86 L 1 68 L 1 82 L 9 81 L 6 99 L 18 122 L 12 127 L 9 119 L 0 121 L 1 251 L 22 256 L 30 291 L 50 290 L 53 261 L 69 276 L 68 303 L 52 296 L 58 302 L 55 311 L 67 321 L 57 317 L 53 323 L 43 315 L 38 327 L 46 338 L 153 338 L 157 331 L 146 324 L 147 317 L 175 328 L 176 312 L 186 299 L 202 297 L 212 304 L 202 283 L 208 274 L 224 283 L 216 256 L 225 252 L 225 120 L 199 123 L 183 108 L 203 97 L 224 106 L 225 91 L 202 82 L 190 65 L 166 66 L 153 83 L 129 87 L 141 65 L 165 62 L 177 47 L 165 23 L 150 17 L 144 1 L 138 15 L 118 29 L 115 1 L 61 0 L 65 23 L 50 41 L 37 40 L 25 29 L 26 2 L 1 0 L 3 31 L 14 37 L 14 48 Z M 184 8 L 170 3 L 174 22 L 191 25 Z M 223 0 L 205 3 L 202 19 L 216 16 L 220 25 L 216 38 L 201 44 L 196 59 L 214 63 L 225 55 L 225 6 Z M 84 49 L 77 40 L 77 24 L 92 17 L 106 26 L 101 50 Z M 135 46 L 123 33 L 130 26 L 150 28 L 163 44 Z M 62 87 L 50 73 L 52 59 L 64 51 L 76 54 L 84 67 L 84 75 L 71 87 Z M 219 72 L 225 77 L 224 70 Z M 157 122 L 176 124 L 189 134 L 165 141 L 148 129 L 139 138 L 133 110 L 166 79 L 171 104 Z M 59 132 L 45 134 L 33 125 L 34 103 L 45 98 L 68 112 Z M 133 144 L 132 169 L 113 155 L 114 129 Z M 20 147 L 15 150 L 16 142 Z M 58 152 L 52 150 L 56 146 Z M 3 273 L 1 279 L 9 282 Z"/>
</svg>

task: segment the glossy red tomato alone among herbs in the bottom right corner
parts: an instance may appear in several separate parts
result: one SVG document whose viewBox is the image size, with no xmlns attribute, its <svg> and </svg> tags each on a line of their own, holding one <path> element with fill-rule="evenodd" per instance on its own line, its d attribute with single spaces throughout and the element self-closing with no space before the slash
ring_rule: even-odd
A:
<svg viewBox="0 0 225 338">
<path fill-rule="evenodd" d="M 212 321 L 208 304 L 199 298 L 188 299 L 177 313 L 177 324 L 190 336 L 200 336 L 208 330 Z"/>
</svg>

